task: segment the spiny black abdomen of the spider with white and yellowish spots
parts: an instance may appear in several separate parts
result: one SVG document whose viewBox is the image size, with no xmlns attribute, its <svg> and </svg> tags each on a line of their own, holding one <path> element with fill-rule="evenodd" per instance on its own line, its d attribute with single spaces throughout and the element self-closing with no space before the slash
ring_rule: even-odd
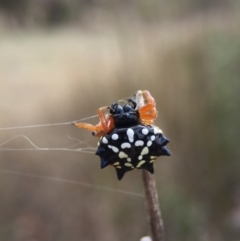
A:
<svg viewBox="0 0 240 241">
<path fill-rule="evenodd" d="M 96 155 L 101 158 L 101 168 L 113 165 L 120 180 L 125 172 L 135 168 L 153 173 L 157 157 L 170 155 L 168 142 L 156 126 L 115 128 L 100 139 Z"/>
</svg>

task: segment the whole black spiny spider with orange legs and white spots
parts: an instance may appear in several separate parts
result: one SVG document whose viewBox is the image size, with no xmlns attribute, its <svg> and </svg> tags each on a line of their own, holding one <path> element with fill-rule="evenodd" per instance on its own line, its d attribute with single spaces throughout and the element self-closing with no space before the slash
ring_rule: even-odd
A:
<svg viewBox="0 0 240 241">
<path fill-rule="evenodd" d="M 124 173 L 134 168 L 153 173 L 153 162 L 158 156 L 169 156 L 169 140 L 153 125 L 157 117 L 155 100 L 147 90 L 120 105 L 98 109 L 100 118 L 96 126 L 74 123 L 100 137 L 96 155 L 101 158 L 101 168 L 113 165 L 120 180 Z M 106 114 L 105 111 L 108 110 Z"/>
</svg>

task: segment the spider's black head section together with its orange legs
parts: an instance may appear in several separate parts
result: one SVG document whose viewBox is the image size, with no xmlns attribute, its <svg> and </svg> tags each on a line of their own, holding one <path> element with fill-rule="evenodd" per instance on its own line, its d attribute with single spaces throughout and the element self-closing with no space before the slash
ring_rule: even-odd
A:
<svg viewBox="0 0 240 241">
<path fill-rule="evenodd" d="M 93 126 L 87 123 L 74 123 L 78 128 L 84 128 L 93 132 L 96 137 L 104 136 L 111 130 L 121 127 L 133 126 L 137 124 L 152 125 L 157 117 L 156 103 L 147 90 L 139 90 L 128 103 L 121 106 L 118 103 L 111 104 L 110 107 L 98 109 L 100 122 Z M 105 114 L 105 110 L 109 110 Z"/>
</svg>

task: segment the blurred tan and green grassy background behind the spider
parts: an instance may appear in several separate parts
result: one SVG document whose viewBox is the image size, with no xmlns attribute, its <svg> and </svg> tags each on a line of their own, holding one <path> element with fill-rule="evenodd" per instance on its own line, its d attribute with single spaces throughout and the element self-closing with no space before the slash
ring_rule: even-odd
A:
<svg viewBox="0 0 240 241">
<path fill-rule="evenodd" d="M 239 29 L 237 0 L 1 0 L 0 127 L 92 116 L 148 89 L 171 140 L 155 163 L 166 240 L 239 241 Z M 0 142 L 19 134 L 40 147 L 97 142 L 71 125 L 0 131 Z M 141 172 L 119 182 L 84 153 L 0 151 L 0 169 L 142 192 Z M 0 196 L 1 240 L 148 234 L 142 198 L 3 173 Z"/>
</svg>

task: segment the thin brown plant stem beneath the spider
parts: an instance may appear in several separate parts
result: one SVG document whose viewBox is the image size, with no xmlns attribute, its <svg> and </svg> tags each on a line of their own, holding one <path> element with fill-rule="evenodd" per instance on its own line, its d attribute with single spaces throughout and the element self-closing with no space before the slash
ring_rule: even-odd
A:
<svg viewBox="0 0 240 241">
<path fill-rule="evenodd" d="M 143 170 L 142 178 L 152 241 L 164 241 L 163 220 L 159 207 L 158 194 L 154 177 L 148 171 Z"/>
</svg>

